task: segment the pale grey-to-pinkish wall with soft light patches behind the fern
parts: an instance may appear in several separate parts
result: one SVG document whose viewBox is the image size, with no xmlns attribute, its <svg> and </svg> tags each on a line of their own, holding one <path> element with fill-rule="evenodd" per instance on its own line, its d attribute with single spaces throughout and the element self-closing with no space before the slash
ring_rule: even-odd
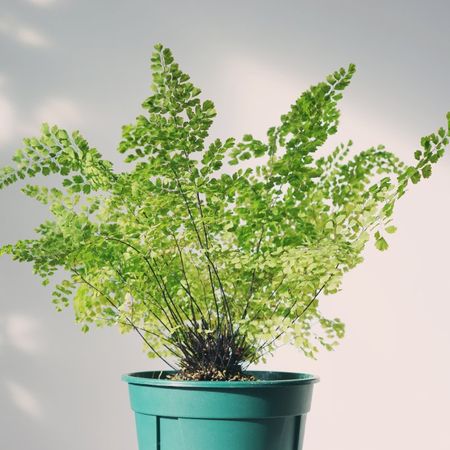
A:
<svg viewBox="0 0 450 450">
<path fill-rule="evenodd" d="M 0 165 L 45 120 L 80 128 L 123 167 L 120 126 L 149 93 L 156 42 L 215 101 L 218 137 L 262 137 L 300 92 L 354 62 L 329 148 L 352 138 L 411 158 L 450 110 L 449 14 L 444 0 L 0 0 Z M 447 154 L 398 205 L 390 250 L 368 248 L 323 299 L 347 324 L 342 345 L 268 361 L 321 377 L 306 450 L 450 448 L 449 175 Z M 47 214 L 18 186 L 0 191 L 0 211 L 2 243 Z M 120 375 L 159 363 L 134 335 L 81 334 L 49 294 L 29 266 L 0 260 L 0 448 L 137 448 Z"/>
</svg>

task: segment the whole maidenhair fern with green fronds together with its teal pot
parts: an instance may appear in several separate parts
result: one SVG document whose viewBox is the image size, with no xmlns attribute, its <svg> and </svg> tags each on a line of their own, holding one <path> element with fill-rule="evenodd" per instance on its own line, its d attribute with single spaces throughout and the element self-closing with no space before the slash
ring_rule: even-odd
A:
<svg viewBox="0 0 450 450">
<path fill-rule="evenodd" d="M 382 146 L 349 156 L 351 142 L 317 156 L 351 64 L 303 93 L 266 140 L 207 143 L 213 103 L 169 49 L 155 46 L 151 62 L 146 112 L 119 144 L 129 171 L 45 124 L 0 170 L 0 188 L 62 176 L 60 188 L 22 188 L 53 218 L 0 252 L 32 262 L 44 285 L 63 269 L 58 310 L 72 303 L 84 332 L 136 332 L 172 369 L 123 377 L 141 450 L 299 450 L 317 378 L 247 369 L 281 340 L 310 357 L 337 345 L 344 324 L 319 297 L 339 290 L 371 237 L 387 249 L 395 203 L 443 156 L 450 114 L 412 165 Z"/>
</svg>

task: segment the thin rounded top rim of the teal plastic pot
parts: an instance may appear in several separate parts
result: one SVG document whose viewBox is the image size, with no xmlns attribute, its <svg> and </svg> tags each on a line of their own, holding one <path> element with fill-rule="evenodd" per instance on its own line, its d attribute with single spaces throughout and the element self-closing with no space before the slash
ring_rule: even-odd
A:
<svg viewBox="0 0 450 450">
<path fill-rule="evenodd" d="M 143 372 L 131 372 L 122 375 L 122 380 L 128 384 L 145 385 L 155 387 L 176 388 L 209 388 L 209 389 L 236 389 L 236 388 L 269 388 L 280 386 L 296 386 L 314 384 L 320 381 L 319 377 L 303 372 L 283 372 L 248 370 L 246 373 L 257 377 L 256 381 L 184 381 L 162 378 L 176 373 L 175 370 L 152 370 Z"/>
</svg>

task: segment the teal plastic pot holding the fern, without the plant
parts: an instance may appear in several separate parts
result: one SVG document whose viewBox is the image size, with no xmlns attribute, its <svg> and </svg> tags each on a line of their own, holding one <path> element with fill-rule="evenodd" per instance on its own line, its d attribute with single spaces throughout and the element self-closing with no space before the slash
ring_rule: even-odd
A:
<svg viewBox="0 0 450 450">
<path fill-rule="evenodd" d="M 250 372 L 257 381 L 171 381 L 124 375 L 139 450 L 301 450 L 317 377 Z"/>
</svg>

